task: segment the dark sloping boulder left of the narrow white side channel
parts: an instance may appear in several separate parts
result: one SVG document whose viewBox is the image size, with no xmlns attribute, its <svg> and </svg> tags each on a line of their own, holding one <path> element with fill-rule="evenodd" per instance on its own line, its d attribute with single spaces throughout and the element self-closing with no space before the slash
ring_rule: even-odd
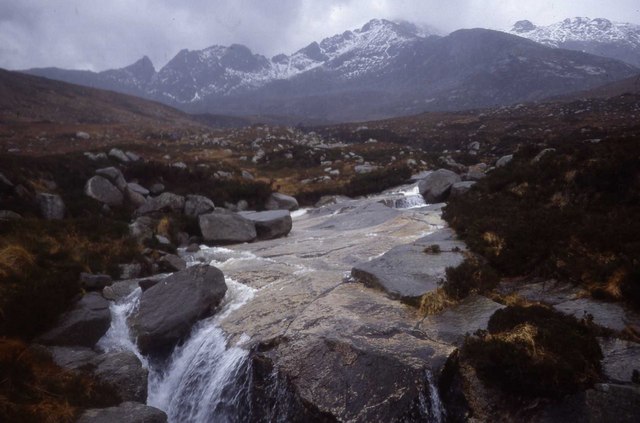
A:
<svg viewBox="0 0 640 423">
<path fill-rule="evenodd" d="M 91 292 L 63 314 L 56 326 L 39 338 L 39 342 L 93 347 L 110 324 L 109 302 L 99 293 Z"/>
</svg>

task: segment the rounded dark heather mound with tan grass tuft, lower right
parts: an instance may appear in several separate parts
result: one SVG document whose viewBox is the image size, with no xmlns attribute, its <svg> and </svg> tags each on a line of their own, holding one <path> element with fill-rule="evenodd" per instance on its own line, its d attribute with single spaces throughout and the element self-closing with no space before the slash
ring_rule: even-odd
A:
<svg viewBox="0 0 640 423">
<path fill-rule="evenodd" d="M 600 377 L 602 352 L 584 323 L 542 306 L 507 307 L 488 332 L 468 337 L 461 357 L 486 384 L 525 397 L 558 398 Z"/>
</svg>

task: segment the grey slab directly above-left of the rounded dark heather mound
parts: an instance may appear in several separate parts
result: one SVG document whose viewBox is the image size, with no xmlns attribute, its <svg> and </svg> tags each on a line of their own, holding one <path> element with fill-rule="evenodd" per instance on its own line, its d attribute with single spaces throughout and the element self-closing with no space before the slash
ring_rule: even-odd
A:
<svg viewBox="0 0 640 423">
<path fill-rule="evenodd" d="M 460 304 L 426 317 L 419 327 L 432 339 L 460 346 L 466 334 L 486 329 L 489 318 L 501 308 L 502 304 L 487 297 L 470 295 Z"/>
</svg>

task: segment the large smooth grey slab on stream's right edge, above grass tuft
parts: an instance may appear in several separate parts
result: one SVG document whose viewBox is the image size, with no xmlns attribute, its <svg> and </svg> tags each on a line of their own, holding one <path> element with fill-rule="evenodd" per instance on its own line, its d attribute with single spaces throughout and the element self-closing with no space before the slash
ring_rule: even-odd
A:
<svg viewBox="0 0 640 423">
<path fill-rule="evenodd" d="M 425 253 L 431 245 L 439 245 L 442 252 Z M 454 251 L 456 247 L 460 251 Z M 356 265 L 351 275 L 367 286 L 384 290 L 391 298 L 415 302 L 437 289 L 447 267 L 462 263 L 461 251 L 465 248 L 453 231 L 447 230 L 394 247 L 381 257 Z"/>
</svg>

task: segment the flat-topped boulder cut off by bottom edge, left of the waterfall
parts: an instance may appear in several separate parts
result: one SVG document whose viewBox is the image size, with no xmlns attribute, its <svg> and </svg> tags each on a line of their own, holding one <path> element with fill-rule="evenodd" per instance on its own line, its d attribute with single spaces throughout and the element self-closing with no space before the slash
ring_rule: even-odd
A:
<svg viewBox="0 0 640 423">
<path fill-rule="evenodd" d="M 167 423 L 164 411 L 137 402 L 124 402 L 117 407 L 86 410 L 78 423 Z"/>
</svg>

